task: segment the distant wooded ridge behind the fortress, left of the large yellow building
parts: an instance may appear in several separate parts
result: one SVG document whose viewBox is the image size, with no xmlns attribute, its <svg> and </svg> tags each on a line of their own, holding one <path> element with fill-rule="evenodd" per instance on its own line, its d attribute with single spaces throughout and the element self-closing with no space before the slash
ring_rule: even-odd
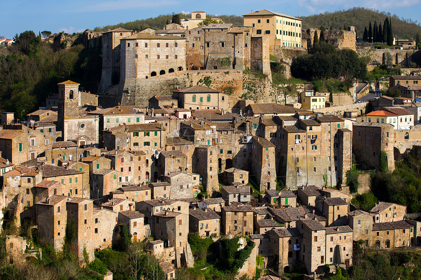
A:
<svg viewBox="0 0 421 280">
<path fill-rule="evenodd" d="M 180 19 L 189 19 L 189 14 L 179 14 Z M 221 19 L 225 23 L 233 23 L 234 25 L 243 25 L 243 17 L 241 16 L 235 16 L 235 15 L 206 15 L 206 17 L 210 18 L 218 18 Z M 164 25 L 167 23 L 170 23 L 172 19 L 172 15 L 160 15 L 155 18 L 149 18 L 145 20 L 137 20 L 134 22 L 121 22 L 114 25 L 106 25 L 103 27 L 95 27 L 94 31 L 107 31 L 108 29 L 113 30 L 115 28 L 121 27 L 129 30 L 137 30 L 141 31 L 145 28 L 152 28 L 155 30 L 162 30 L 164 29 Z"/>
</svg>

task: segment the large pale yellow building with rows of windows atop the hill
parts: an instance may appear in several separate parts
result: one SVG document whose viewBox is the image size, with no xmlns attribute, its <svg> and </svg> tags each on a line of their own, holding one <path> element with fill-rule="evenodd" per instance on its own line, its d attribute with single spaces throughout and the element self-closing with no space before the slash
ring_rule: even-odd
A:
<svg viewBox="0 0 421 280">
<path fill-rule="evenodd" d="M 269 35 L 270 53 L 274 53 L 275 45 L 301 47 L 302 20 L 268 10 L 252 12 L 243 17 L 244 26 L 254 27 L 252 35 Z"/>
</svg>

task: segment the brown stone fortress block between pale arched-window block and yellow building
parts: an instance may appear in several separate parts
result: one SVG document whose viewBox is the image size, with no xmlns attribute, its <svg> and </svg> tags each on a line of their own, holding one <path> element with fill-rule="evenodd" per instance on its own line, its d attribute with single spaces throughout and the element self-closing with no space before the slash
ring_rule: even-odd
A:
<svg viewBox="0 0 421 280">
<path fill-rule="evenodd" d="M 186 66 L 199 69 L 250 68 L 252 28 L 211 23 L 186 30 Z"/>
</svg>

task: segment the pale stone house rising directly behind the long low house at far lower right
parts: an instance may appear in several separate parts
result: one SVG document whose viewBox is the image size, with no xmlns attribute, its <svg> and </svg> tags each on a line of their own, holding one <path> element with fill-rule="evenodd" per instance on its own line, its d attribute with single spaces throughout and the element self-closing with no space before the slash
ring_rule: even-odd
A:
<svg viewBox="0 0 421 280">
<path fill-rule="evenodd" d="M 374 223 L 395 222 L 403 220 L 406 215 L 406 206 L 391 202 L 379 201 L 370 210 Z"/>
</svg>

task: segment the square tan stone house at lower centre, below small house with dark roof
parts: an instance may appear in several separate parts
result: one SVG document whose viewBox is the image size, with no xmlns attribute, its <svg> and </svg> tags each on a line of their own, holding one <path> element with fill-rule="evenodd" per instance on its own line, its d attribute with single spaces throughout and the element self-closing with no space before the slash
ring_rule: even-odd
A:
<svg viewBox="0 0 421 280">
<path fill-rule="evenodd" d="M 223 207 L 222 229 L 225 235 L 253 234 L 253 208 L 244 204 Z"/>
</svg>

